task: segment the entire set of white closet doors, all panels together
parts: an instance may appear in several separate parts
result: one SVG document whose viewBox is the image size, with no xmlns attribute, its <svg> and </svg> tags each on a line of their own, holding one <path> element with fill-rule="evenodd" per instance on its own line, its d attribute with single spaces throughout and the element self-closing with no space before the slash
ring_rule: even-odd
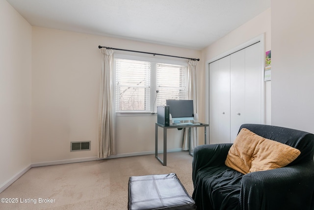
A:
<svg viewBox="0 0 314 210">
<path fill-rule="evenodd" d="M 209 64 L 209 143 L 233 143 L 241 124 L 262 123 L 258 42 Z"/>
</svg>

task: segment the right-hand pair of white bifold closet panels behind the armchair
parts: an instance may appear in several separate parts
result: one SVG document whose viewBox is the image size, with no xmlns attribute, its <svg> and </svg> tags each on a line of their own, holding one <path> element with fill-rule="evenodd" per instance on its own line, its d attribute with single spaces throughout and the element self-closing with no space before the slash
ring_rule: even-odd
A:
<svg viewBox="0 0 314 210">
<path fill-rule="evenodd" d="M 262 57 L 258 42 L 231 55 L 231 143 L 241 124 L 262 123 Z"/>
</svg>

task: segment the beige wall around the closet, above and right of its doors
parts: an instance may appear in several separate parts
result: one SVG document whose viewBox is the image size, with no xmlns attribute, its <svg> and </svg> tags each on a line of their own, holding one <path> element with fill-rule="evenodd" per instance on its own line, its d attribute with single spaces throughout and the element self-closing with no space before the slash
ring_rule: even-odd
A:
<svg viewBox="0 0 314 210">
<path fill-rule="evenodd" d="M 227 34 L 225 37 L 214 42 L 209 47 L 205 48 L 202 51 L 203 60 L 205 60 L 204 69 L 206 68 L 209 60 L 217 58 L 220 55 L 224 54 L 225 52 L 228 52 L 261 34 L 264 34 L 265 51 L 271 50 L 270 16 L 271 12 L 269 8 L 266 11 L 262 12 L 257 17 L 253 18 L 252 20 L 248 21 L 239 28 Z M 202 83 L 206 84 L 206 82 L 204 82 L 206 80 L 207 78 L 204 74 Z M 271 81 L 264 82 L 264 87 L 265 87 L 265 123 L 271 124 Z M 205 103 L 206 101 L 204 98 L 202 104 Z"/>
</svg>

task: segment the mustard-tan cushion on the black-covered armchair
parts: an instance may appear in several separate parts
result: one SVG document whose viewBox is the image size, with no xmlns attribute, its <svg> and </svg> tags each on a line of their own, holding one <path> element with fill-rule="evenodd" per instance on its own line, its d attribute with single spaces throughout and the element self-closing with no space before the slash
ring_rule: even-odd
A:
<svg viewBox="0 0 314 210">
<path fill-rule="evenodd" d="M 300 153 L 300 150 L 265 139 L 242 128 L 228 152 L 225 164 L 242 174 L 247 174 L 284 167 Z"/>
</svg>

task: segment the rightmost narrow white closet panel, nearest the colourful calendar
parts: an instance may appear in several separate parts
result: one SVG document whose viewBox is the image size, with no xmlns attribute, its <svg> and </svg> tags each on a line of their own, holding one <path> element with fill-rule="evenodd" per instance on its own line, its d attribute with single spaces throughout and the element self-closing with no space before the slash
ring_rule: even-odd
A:
<svg viewBox="0 0 314 210">
<path fill-rule="evenodd" d="M 245 122 L 262 123 L 261 43 L 245 49 Z"/>
</svg>

